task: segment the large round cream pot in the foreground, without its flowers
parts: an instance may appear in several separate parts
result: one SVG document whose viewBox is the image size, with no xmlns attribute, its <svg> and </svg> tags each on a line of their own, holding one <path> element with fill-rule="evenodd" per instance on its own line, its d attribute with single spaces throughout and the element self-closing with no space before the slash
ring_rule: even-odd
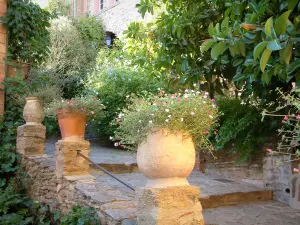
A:
<svg viewBox="0 0 300 225">
<path fill-rule="evenodd" d="M 192 172 L 195 160 L 192 139 L 167 129 L 149 134 L 137 152 L 139 170 L 148 178 L 147 187 L 189 185 L 186 178 Z"/>
</svg>

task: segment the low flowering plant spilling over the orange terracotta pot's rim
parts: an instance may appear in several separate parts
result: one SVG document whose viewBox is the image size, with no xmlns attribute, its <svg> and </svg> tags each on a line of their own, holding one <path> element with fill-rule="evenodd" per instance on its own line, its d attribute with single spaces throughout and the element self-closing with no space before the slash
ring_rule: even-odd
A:
<svg viewBox="0 0 300 225">
<path fill-rule="evenodd" d="M 100 113 L 105 106 L 97 98 L 91 96 L 75 97 L 70 100 L 55 99 L 45 109 L 47 115 L 56 116 L 58 110 L 67 109 L 70 111 L 81 111 L 87 116 L 93 116 Z"/>
</svg>

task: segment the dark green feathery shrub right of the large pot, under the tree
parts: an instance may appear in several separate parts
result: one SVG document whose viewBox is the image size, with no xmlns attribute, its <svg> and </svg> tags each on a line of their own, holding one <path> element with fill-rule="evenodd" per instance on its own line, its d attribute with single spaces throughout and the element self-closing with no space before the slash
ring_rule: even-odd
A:
<svg viewBox="0 0 300 225">
<path fill-rule="evenodd" d="M 240 161 L 260 151 L 261 144 L 276 130 L 276 121 L 262 122 L 261 111 L 240 99 L 218 97 L 216 104 L 222 115 L 217 135 L 213 135 L 214 148 L 229 149 Z"/>
</svg>

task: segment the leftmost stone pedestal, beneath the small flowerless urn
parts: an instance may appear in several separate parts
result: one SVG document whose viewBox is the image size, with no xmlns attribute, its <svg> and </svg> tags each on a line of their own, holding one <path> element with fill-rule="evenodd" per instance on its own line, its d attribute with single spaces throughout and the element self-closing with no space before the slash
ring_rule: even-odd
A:
<svg viewBox="0 0 300 225">
<path fill-rule="evenodd" d="M 24 156 L 40 156 L 45 152 L 46 127 L 40 123 L 18 127 L 17 151 Z"/>
</svg>

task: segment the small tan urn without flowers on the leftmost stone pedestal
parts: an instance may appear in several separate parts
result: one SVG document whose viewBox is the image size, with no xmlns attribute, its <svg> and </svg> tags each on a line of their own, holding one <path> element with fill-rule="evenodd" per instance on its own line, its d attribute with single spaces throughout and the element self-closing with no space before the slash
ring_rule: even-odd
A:
<svg viewBox="0 0 300 225">
<path fill-rule="evenodd" d="M 23 117 L 27 124 L 41 123 L 44 119 L 43 108 L 35 97 L 26 98 L 26 104 L 23 111 Z"/>
</svg>

